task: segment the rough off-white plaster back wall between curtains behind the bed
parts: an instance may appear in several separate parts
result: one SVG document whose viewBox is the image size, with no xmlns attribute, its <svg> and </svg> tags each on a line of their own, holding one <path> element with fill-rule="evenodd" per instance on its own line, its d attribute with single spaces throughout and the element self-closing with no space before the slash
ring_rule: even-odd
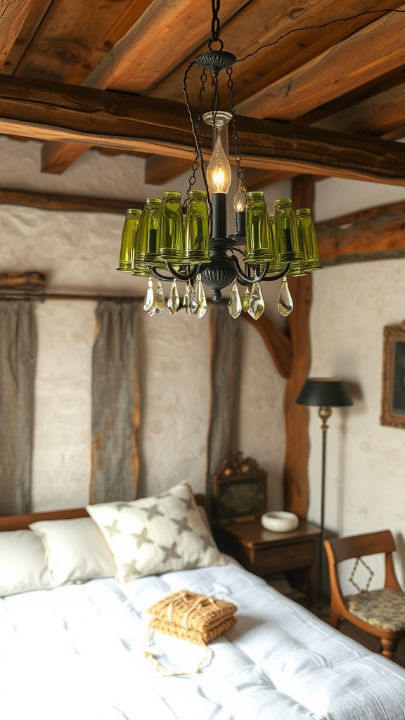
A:
<svg viewBox="0 0 405 720">
<path fill-rule="evenodd" d="M 4 187 L 104 197 L 161 197 L 145 189 L 143 161 L 87 153 L 61 177 L 40 175 L 40 145 L 0 138 Z M 181 180 L 183 186 L 184 179 Z M 145 279 L 117 272 L 123 217 L 1 206 L 0 271 L 44 271 L 49 292 L 143 295 Z M 277 290 L 266 289 L 275 307 Z M 35 306 L 39 335 L 35 385 L 33 509 L 89 500 L 94 302 Z M 282 320 L 276 318 L 278 323 Z M 269 505 L 282 507 L 284 383 L 259 334 L 244 320 L 239 448 L 269 474 Z M 145 494 L 189 480 L 204 490 L 210 400 L 208 313 L 168 311 L 142 319 L 141 483 Z M 229 362 L 231 364 L 232 358 Z"/>
</svg>

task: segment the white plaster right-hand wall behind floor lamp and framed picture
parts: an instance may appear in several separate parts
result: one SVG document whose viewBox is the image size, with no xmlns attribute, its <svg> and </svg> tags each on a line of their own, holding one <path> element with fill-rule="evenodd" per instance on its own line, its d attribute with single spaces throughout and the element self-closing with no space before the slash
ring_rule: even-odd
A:
<svg viewBox="0 0 405 720">
<path fill-rule="evenodd" d="M 317 184 L 316 198 L 316 217 L 321 219 L 403 201 L 405 190 L 327 180 Z M 404 259 L 329 267 L 313 273 L 311 311 L 311 376 L 341 377 L 354 400 L 350 408 L 334 408 L 328 423 L 326 528 L 339 535 L 390 528 L 399 549 L 396 569 L 403 586 L 405 431 L 380 425 L 380 403 L 383 327 L 405 319 L 404 287 Z M 316 408 L 310 413 L 309 518 L 318 521 L 321 420 Z M 381 570 L 372 565 L 378 582 Z"/>
</svg>

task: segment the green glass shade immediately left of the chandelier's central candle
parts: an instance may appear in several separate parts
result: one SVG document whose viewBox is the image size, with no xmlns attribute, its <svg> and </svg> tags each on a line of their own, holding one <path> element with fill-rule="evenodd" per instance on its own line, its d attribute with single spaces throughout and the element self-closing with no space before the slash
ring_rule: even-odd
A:
<svg viewBox="0 0 405 720">
<path fill-rule="evenodd" d="M 184 216 L 184 262 L 209 263 L 209 211 L 205 190 L 190 190 Z"/>
</svg>

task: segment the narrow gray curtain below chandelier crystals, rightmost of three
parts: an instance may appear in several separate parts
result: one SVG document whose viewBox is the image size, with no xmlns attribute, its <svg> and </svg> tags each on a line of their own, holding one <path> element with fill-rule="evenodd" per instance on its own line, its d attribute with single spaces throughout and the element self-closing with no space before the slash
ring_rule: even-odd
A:
<svg viewBox="0 0 405 720">
<path fill-rule="evenodd" d="M 211 308 L 211 402 L 206 487 L 208 512 L 212 503 L 210 477 L 224 459 L 239 449 L 241 322 L 240 319 L 231 318 L 225 300 Z"/>
</svg>

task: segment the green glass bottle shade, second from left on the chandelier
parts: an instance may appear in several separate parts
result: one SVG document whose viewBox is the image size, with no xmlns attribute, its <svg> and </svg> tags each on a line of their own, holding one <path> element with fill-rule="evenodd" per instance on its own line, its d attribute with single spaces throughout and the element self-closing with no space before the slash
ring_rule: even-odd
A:
<svg viewBox="0 0 405 720">
<path fill-rule="evenodd" d="M 160 225 L 161 199 L 148 197 L 138 228 L 134 257 L 134 264 L 138 267 L 165 267 L 164 261 L 159 258 Z"/>
</svg>

